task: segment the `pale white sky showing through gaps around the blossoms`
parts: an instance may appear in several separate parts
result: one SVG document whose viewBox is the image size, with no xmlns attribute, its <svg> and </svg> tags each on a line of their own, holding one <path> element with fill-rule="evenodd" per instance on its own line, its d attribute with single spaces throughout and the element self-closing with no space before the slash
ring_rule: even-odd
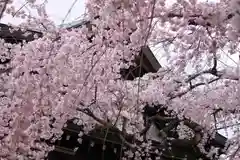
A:
<svg viewBox="0 0 240 160">
<path fill-rule="evenodd" d="M 18 9 L 21 8 L 21 6 L 24 5 L 24 3 L 26 3 L 26 0 L 14 0 L 14 2 L 15 6 Z M 76 3 L 74 4 L 74 7 L 72 8 L 70 14 L 65 20 L 65 23 L 72 22 L 76 19 L 79 19 L 80 17 L 83 17 L 83 14 L 85 13 L 85 0 L 48 0 L 47 13 L 57 25 L 60 25 L 74 2 Z M 21 23 L 21 20 L 12 18 L 11 16 L 8 15 L 4 16 L 1 19 L 1 23 L 11 23 L 17 25 Z M 162 49 L 153 49 L 153 52 L 155 55 L 157 55 L 156 58 L 159 60 L 162 66 L 168 65 L 166 59 L 162 58 L 163 55 Z M 235 57 L 233 57 L 233 59 L 238 61 L 238 58 L 236 59 Z M 236 64 L 233 63 L 233 61 L 229 57 L 222 58 L 221 61 L 223 61 L 223 63 L 225 64 L 236 66 Z M 221 131 L 221 133 L 224 134 L 223 131 Z M 224 135 L 226 136 L 226 134 Z"/>
</svg>

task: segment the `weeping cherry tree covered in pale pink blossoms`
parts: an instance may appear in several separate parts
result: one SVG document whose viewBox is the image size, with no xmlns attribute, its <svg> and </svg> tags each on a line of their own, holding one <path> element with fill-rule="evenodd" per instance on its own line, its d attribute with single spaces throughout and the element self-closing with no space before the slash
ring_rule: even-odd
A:
<svg viewBox="0 0 240 160">
<path fill-rule="evenodd" d="M 213 158 L 216 148 L 204 145 L 216 132 L 216 118 L 227 125 L 239 120 L 238 62 L 229 68 L 219 60 L 225 52 L 238 54 L 240 1 L 88 0 L 91 27 L 72 30 L 48 18 L 46 0 L 26 0 L 36 16 L 12 3 L 1 2 L 1 16 L 25 19 L 18 27 L 44 36 L 22 45 L 1 40 L 1 60 L 11 59 L 0 68 L 1 159 L 43 159 L 53 149 L 44 140 L 61 137 L 73 118 L 85 133 L 95 125 L 115 127 L 132 152 L 151 147 L 129 143 L 125 135 L 145 141 L 151 122 L 162 119 L 169 122 L 159 132 L 165 144 L 167 132 L 181 123 L 179 134 L 187 126 L 193 135 L 172 145 L 196 146 Z M 146 45 L 168 48 L 169 68 L 124 80 L 120 69 L 134 65 Z M 146 105 L 164 106 L 168 117 L 151 116 L 144 125 Z M 226 148 L 232 160 L 240 157 L 239 131 L 233 129 Z"/>
</svg>

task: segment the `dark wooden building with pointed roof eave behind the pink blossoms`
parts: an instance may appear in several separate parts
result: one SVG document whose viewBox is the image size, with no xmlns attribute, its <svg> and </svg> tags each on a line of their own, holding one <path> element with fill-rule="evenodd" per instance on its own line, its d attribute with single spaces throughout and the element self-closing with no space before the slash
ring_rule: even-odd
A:
<svg viewBox="0 0 240 160">
<path fill-rule="evenodd" d="M 89 24 L 88 22 L 84 22 Z M 83 24 L 75 24 L 73 27 L 81 27 Z M 35 31 L 28 31 L 30 34 L 25 36 L 21 31 L 9 31 L 9 26 L 5 24 L 0 24 L 2 30 L 0 32 L 0 38 L 4 39 L 8 43 L 22 43 L 23 41 L 32 41 L 34 40 L 34 34 L 37 34 L 39 37 L 42 36 L 42 33 Z M 71 28 L 71 27 L 70 27 Z M 142 58 L 142 65 L 140 64 L 140 57 Z M 153 53 L 148 46 L 142 47 L 142 50 L 138 57 L 135 59 L 136 66 L 131 66 L 129 69 L 122 70 L 122 77 L 126 80 L 133 80 L 139 75 L 142 76 L 149 72 L 157 72 L 161 67 Z M 141 72 L 140 72 L 141 71 Z M 157 111 L 153 111 L 151 114 L 156 114 Z M 150 113 L 145 113 L 150 114 Z M 158 122 L 163 124 L 164 122 Z M 73 123 L 73 121 L 67 122 L 67 127 L 63 128 L 64 134 L 62 135 L 61 140 L 55 142 L 55 150 L 50 152 L 48 155 L 49 160 L 120 160 L 123 154 L 122 150 L 122 140 L 116 134 L 116 131 L 110 130 L 106 133 L 104 128 L 96 128 L 92 132 L 82 137 L 82 143 L 78 143 L 78 134 L 82 130 L 81 126 L 78 126 Z M 209 141 L 209 146 L 216 146 L 219 148 L 224 148 L 226 143 L 226 138 L 220 134 L 216 134 L 214 139 Z M 131 142 L 132 139 L 129 137 L 128 142 Z M 103 149 L 103 145 L 106 147 Z M 159 148 L 164 148 L 159 142 L 153 141 L 153 145 L 156 145 Z M 77 151 L 76 151 L 76 148 Z M 181 147 L 173 148 L 171 154 L 168 153 L 168 150 L 165 150 L 165 155 L 174 155 L 175 157 L 184 158 L 184 155 L 188 155 L 187 160 L 195 160 L 201 157 L 198 151 L 195 151 L 194 148 L 184 149 Z M 173 160 L 171 156 L 162 156 L 163 160 Z M 203 158 L 204 159 L 204 158 Z M 205 158 L 207 160 L 207 158 Z M 152 156 L 152 160 L 155 160 L 155 157 Z"/>
</svg>

